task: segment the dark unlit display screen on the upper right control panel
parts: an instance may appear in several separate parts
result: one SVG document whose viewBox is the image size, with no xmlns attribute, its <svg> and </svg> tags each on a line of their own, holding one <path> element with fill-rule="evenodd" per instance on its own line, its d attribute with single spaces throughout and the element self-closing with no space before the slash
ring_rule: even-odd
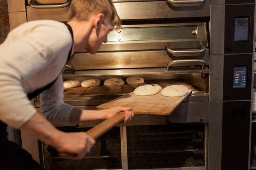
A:
<svg viewBox="0 0 256 170">
<path fill-rule="evenodd" d="M 234 41 L 248 41 L 249 18 L 235 18 Z"/>
</svg>

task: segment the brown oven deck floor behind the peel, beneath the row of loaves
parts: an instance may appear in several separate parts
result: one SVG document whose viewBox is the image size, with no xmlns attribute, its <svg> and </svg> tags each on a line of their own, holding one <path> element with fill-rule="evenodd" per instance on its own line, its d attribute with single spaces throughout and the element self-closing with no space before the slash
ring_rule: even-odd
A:
<svg viewBox="0 0 256 170">
<path fill-rule="evenodd" d="M 162 88 L 182 84 L 192 90 L 192 94 L 183 102 L 208 102 L 209 95 L 181 79 L 146 79 L 144 84 L 159 84 Z M 131 93 L 142 84 L 124 84 L 123 86 L 76 87 L 64 89 L 64 102 L 72 106 L 98 106 L 122 95 Z M 40 97 L 34 99 L 36 108 L 40 108 Z"/>
</svg>

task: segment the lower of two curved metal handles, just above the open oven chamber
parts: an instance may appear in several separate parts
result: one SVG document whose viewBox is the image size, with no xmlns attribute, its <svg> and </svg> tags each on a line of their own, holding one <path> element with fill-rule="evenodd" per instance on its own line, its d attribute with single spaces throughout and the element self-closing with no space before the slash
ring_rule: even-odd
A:
<svg viewBox="0 0 256 170">
<path fill-rule="evenodd" d="M 167 63 L 165 70 L 169 71 L 170 66 L 173 66 L 173 65 L 179 65 L 179 66 L 201 65 L 201 69 L 204 70 L 206 62 L 204 60 L 172 60 Z"/>
</svg>

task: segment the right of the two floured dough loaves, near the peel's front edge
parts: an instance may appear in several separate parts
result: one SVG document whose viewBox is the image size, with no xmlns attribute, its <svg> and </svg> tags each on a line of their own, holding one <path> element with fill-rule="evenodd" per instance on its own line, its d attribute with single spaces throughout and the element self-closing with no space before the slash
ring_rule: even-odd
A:
<svg viewBox="0 0 256 170">
<path fill-rule="evenodd" d="M 167 86 L 161 91 L 162 96 L 167 97 L 180 97 L 189 93 L 189 89 L 182 85 Z"/>
</svg>

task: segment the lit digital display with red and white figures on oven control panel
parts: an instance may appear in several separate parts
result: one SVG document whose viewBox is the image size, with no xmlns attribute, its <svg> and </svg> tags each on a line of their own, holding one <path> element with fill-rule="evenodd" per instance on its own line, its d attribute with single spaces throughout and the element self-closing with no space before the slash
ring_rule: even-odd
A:
<svg viewBox="0 0 256 170">
<path fill-rule="evenodd" d="M 233 67 L 233 88 L 246 88 L 247 66 Z"/>
</svg>

